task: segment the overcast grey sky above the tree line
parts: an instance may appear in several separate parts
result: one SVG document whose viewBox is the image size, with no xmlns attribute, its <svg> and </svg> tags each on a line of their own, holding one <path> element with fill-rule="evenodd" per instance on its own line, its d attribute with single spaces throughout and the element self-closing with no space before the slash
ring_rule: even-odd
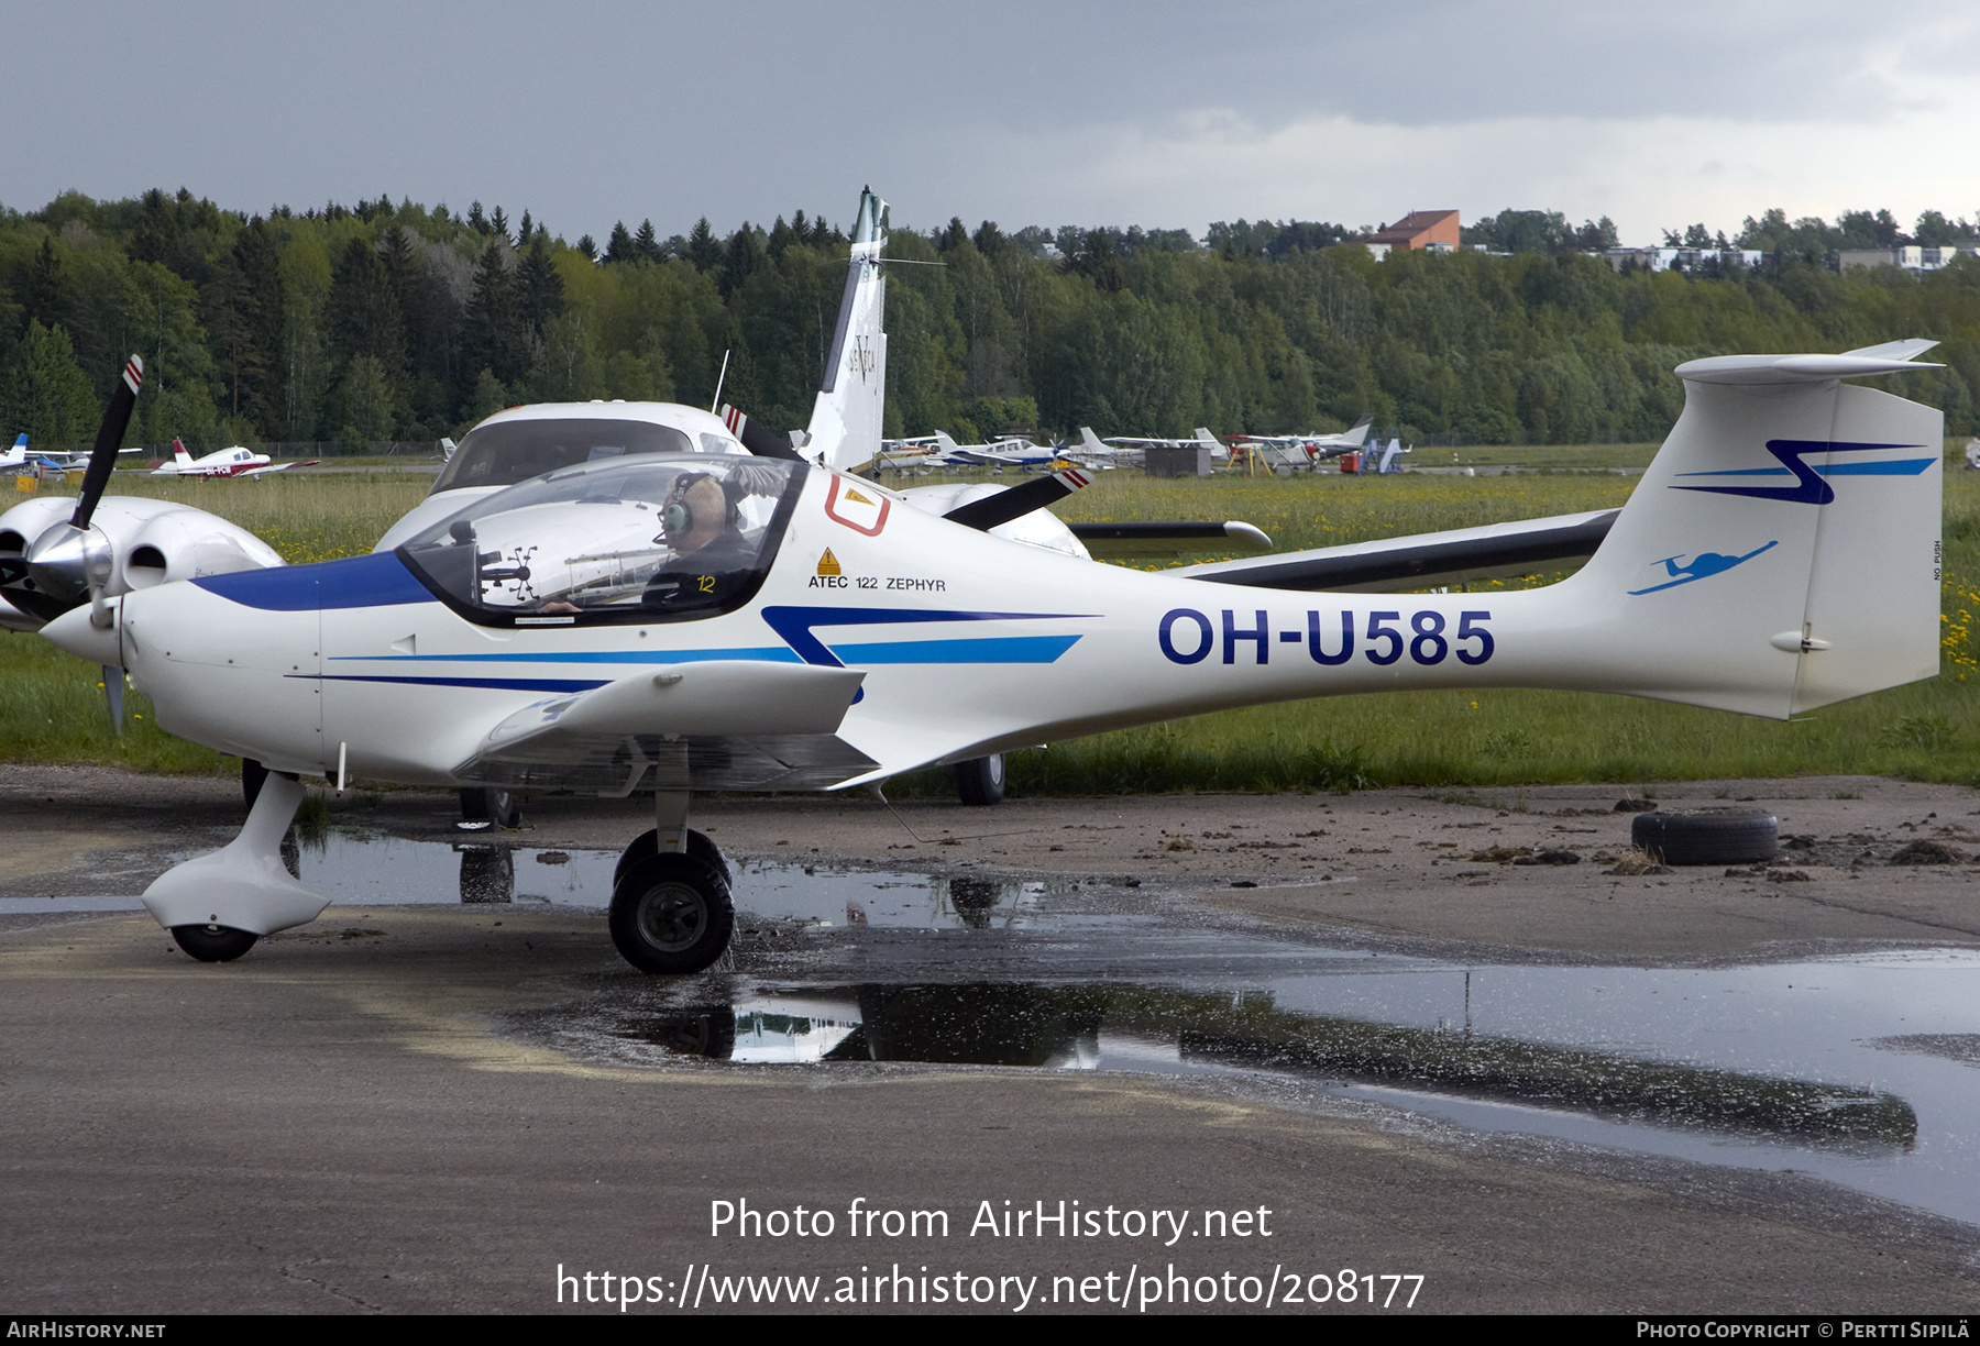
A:
<svg viewBox="0 0 1980 1346">
<path fill-rule="evenodd" d="M 1964 14 L 1964 16 L 1962 16 Z M 0 204 L 390 192 L 576 241 L 843 224 L 1980 214 L 1980 14 L 1774 0 L 0 0 Z"/>
</svg>

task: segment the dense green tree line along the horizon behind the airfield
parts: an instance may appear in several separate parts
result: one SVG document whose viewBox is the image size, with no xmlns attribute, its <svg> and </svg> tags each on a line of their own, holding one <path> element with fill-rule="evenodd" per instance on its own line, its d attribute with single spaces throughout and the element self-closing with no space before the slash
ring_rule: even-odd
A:
<svg viewBox="0 0 1980 1346">
<path fill-rule="evenodd" d="M 1693 226 L 1703 234 L 1703 226 Z M 1980 430 L 1980 263 L 1837 275 L 1859 238 L 1954 241 L 1964 220 L 1748 218 L 1766 265 L 1618 273 L 1608 220 L 1501 212 L 1489 251 L 1390 253 L 1364 230 L 895 230 L 887 432 L 1178 435 L 1333 430 L 1372 412 L 1457 441 L 1655 439 L 1703 354 L 1936 336 L 1942 372 L 1897 380 Z M 1679 234 L 1679 238 L 1685 238 Z M 1501 255 L 1511 253 L 1511 255 Z M 519 402 L 723 400 L 772 428 L 812 406 L 847 240 L 820 214 L 661 240 L 618 224 L 566 243 L 523 212 L 360 200 L 267 214 L 190 192 L 0 210 L 0 433 L 91 437 L 123 354 L 147 360 L 135 439 L 190 447 L 459 435 Z"/>
</svg>

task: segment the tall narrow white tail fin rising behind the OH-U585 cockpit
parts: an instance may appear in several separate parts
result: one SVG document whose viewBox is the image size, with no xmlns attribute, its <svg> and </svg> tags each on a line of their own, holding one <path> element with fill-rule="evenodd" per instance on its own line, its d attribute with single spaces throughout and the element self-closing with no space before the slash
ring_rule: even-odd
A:
<svg viewBox="0 0 1980 1346">
<path fill-rule="evenodd" d="M 887 277 L 887 202 L 867 188 L 859 194 L 853 247 L 845 265 L 840 327 L 832 335 L 826 382 L 812 406 L 804 455 L 814 463 L 851 471 L 879 455 L 881 412 L 887 390 L 887 335 L 881 331 Z"/>
</svg>

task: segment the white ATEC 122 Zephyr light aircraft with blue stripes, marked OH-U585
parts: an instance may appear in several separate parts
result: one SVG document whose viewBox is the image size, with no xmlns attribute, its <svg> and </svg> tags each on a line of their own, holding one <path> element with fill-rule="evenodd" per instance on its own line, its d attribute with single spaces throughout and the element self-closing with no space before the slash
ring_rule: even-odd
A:
<svg viewBox="0 0 1980 1346">
<path fill-rule="evenodd" d="M 67 550 L 28 570 L 91 598 L 48 639 L 129 667 L 170 732 L 275 772 L 232 845 L 145 893 L 196 958 L 325 909 L 279 843 L 303 776 L 364 776 L 651 792 L 610 930 L 634 966 L 693 972 L 733 924 L 723 857 L 689 827 L 695 790 L 843 790 L 1360 691 L 1578 689 L 1790 719 L 1932 677 L 1942 416 L 1841 382 L 1929 368 L 1913 362 L 1929 344 L 1691 360 L 1683 416 L 1606 523 L 1374 548 L 1378 570 L 1428 574 L 1600 530 L 1568 580 L 1489 596 L 1342 592 L 1368 558 L 1331 552 L 1095 566 L 984 532 L 1049 477 L 937 517 L 830 459 L 733 453 L 582 461 L 392 552 L 117 602 L 87 564 L 85 489 Z"/>
</svg>

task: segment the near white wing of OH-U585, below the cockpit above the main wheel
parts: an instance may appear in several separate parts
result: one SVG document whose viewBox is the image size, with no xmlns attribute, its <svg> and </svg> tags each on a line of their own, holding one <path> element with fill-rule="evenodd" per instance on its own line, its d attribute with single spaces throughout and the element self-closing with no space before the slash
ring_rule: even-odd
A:
<svg viewBox="0 0 1980 1346">
<path fill-rule="evenodd" d="M 838 736 L 861 669 L 711 659 L 517 711 L 453 768 L 465 782 L 626 796 L 826 790 L 877 762 Z"/>
</svg>

